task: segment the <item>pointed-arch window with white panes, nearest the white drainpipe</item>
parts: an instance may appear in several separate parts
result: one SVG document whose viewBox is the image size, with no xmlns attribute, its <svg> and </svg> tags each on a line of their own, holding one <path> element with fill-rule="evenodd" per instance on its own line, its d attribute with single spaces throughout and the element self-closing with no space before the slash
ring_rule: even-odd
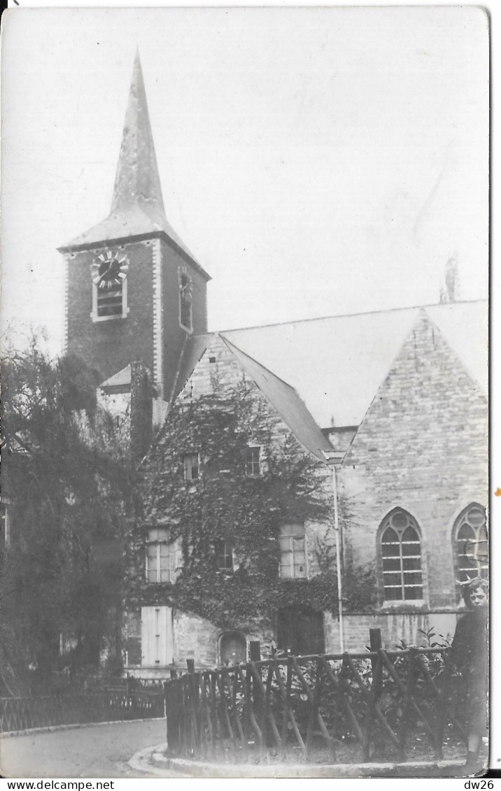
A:
<svg viewBox="0 0 501 791">
<path fill-rule="evenodd" d="M 406 511 L 397 509 L 385 518 L 381 558 L 385 601 L 423 599 L 419 528 Z"/>
</svg>

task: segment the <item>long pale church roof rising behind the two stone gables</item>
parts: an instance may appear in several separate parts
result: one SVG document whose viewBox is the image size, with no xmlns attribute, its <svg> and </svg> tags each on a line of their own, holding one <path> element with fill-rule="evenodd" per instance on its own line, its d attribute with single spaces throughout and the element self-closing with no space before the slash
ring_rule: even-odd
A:
<svg viewBox="0 0 501 791">
<path fill-rule="evenodd" d="M 220 335 L 289 382 L 322 428 L 359 426 L 420 311 L 487 394 L 485 301 L 332 316 Z"/>
</svg>

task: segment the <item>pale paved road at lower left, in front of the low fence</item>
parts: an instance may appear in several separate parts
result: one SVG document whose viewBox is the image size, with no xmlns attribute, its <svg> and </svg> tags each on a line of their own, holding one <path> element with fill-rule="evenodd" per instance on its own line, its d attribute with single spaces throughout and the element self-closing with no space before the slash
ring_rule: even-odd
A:
<svg viewBox="0 0 501 791">
<path fill-rule="evenodd" d="M 131 769 L 127 761 L 144 747 L 163 741 L 165 720 L 10 736 L 0 742 L 0 767 L 6 778 L 157 777 Z"/>
</svg>

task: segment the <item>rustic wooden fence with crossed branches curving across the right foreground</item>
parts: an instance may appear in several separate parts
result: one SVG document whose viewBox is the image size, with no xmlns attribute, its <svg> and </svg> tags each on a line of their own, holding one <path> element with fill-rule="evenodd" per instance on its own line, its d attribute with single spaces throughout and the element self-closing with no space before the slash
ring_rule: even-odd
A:
<svg viewBox="0 0 501 791">
<path fill-rule="evenodd" d="M 440 759 L 444 740 L 466 740 L 450 703 L 446 649 L 283 657 L 200 672 L 190 664 L 165 683 L 171 756 L 404 761 L 408 751 Z"/>
</svg>

